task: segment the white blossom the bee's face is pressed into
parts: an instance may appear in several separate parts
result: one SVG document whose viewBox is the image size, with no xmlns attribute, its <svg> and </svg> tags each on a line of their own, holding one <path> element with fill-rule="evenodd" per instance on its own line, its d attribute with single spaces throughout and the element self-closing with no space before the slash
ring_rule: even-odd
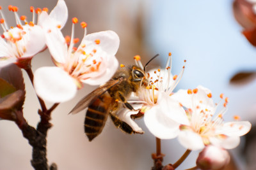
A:
<svg viewBox="0 0 256 170">
<path fill-rule="evenodd" d="M 184 73 L 184 67 L 179 76 L 172 76 L 171 60 L 170 54 L 164 69 L 157 69 L 147 73 L 150 85 L 147 88 L 141 87 L 138 91 L 141 101 L 147 103 L 141 108 L 141 111 L 145 112 L 145 124 L 154 136 L 161 139 L 177 137 L 180 122 L 183 124 L 188 123 L 184 118 L 186 117 L 184 108 L 171 96 L 173 89 L 175 89 Z M 170 114 L 173 117 L 170 117 Z"/>
</svg>

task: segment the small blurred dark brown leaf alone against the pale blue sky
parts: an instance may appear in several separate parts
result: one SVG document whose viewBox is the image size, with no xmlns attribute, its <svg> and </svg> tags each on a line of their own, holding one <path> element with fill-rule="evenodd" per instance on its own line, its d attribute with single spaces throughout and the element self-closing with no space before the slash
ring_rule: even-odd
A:
<svg viewBox="0 0 256 170">
<path fill-rule="evenodd" d="M 250 83 L 251 81 L 255 80 L 256 78 L 256 71 L 241 71 L 230 79 L 231 84 L 236 85 L 245 85 L 246 83 Z"/>
</svg>

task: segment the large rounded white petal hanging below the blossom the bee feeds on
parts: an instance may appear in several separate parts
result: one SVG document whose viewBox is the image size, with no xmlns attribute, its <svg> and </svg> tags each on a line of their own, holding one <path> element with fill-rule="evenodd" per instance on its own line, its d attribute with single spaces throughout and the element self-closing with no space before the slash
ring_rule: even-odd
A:
<svg viewBox="0 0 256 170">
<path fill-rule="evenodd" d="M 148 130 L 160 139 L 173 139 L 179 134 L 179 124 L 166 117 L 160 106 L 153 106 L 144 114 L 145 125 Z"/>
</svg>

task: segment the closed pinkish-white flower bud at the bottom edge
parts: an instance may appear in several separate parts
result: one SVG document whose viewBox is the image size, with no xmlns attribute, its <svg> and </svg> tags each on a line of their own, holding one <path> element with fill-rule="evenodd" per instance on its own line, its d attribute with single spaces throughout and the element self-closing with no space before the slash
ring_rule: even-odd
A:
<svg viewBox="0 0 256 170">
<path fill-rule="evenodd" d="M 230 156 L 227 150 L 218 146 L 209 145 L 199 153 L 196 166 L 200 169 L 218 170 L 227 166 Z"/>
</svg>

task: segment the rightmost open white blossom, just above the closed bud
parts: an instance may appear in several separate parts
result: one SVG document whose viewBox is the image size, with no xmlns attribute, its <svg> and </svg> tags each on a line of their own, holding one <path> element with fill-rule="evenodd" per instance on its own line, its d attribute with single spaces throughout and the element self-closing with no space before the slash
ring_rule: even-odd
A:
<svg viewBox="0 0 256 170">
<path fill-rule="evenodd" d="M 224 123 L 223 114 L 227 110 L 228 99 L 225 99 L 224 108 L 216 113 L 218 104 L 216 106 L 213 103 L 211 91 L 205 87 L 179 90 L 172 97 L 188 109 L 187 117 L 184 117 L 183 122 L 189 123 L 180 122 L 182 125 L 180 125 L 179 141 L 189 150 L 199 150 L 210 144 L 225 149 L 235 148 L 239 145 L 239 136 L 243 136 L 251 129 L 252 125 L 247 121 Z M 223 98 L 223 94 L 220 97 Z M 172 118 L 177 115 L 169 116 Z"/>
</svg>

